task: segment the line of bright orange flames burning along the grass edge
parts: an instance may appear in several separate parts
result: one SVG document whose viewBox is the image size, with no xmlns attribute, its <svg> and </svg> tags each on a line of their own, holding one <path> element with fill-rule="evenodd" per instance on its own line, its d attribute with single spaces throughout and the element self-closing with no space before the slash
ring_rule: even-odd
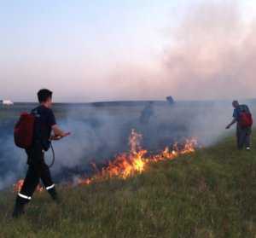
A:
<svg viewBox="0 0 256 238">
<path fill-rule="evenodd" d="M 96 174 L 92 177 L 79 178 L 77 184 L 89 185 L 90 183 L 99 183 L 112 177 L 126 179 L 136 174 L 141 174 L 146 171 L 150 163 L 157 163 L 163 160 L 174 160 L 181 154 L 191 154 L 195 152 L 197 141 L 195 138 L 187 139 L 182 146 L 175 143 L 172 148 L 166 147 L 159 154 L 150 155 L 148 151 L 143 149 L 141 142 L 143 136 L 135 130 L 131 131 L 129 137 L 130 152 L 118 154 L 114 160 L 108 161 L 108 165 L 99 170 L 95 164 L 92 164 Z M 18 181 L 14 185 L 15 191 L 20 191 L 23 185 L 23 180 Z M 38 191 L 43 188 L 38 186 Z"/>
</svg>

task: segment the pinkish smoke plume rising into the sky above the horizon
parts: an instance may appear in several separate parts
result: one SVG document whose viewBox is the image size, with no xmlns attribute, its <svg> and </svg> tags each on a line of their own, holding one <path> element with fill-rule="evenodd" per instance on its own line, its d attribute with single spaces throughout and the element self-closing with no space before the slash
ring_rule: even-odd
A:
<svg viewBox="0 0 256 238">
<path fill-rule="evenodd" d="M 256 20 L 237 1 L 193 3 L 168 30 L 161 60 L 119 67 L 113 95 L 182 100 L 250 98 L 256 88 Z M 126 95 L 127 94 L 127 95 Z"/>
</svg>

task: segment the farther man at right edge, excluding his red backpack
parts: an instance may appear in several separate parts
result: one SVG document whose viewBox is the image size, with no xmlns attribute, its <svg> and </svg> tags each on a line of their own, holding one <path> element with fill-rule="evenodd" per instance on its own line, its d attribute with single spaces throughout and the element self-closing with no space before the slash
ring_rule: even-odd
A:
<svg viewBox="0 0 256 238">
<path fill-rule="evenodd" d="M 250 150 L 252 126 L 242 127 L 240 124 L 241 113 L 250 114 L 250 109 L 247 105 L 240 105 L 237 101 L 234 101 L 232 105 L 234 107 L 233 120 L 226 129 L 236 124 L 237 148 L 242 149 L 245 146 L 247 150 Z"/>
</svg>

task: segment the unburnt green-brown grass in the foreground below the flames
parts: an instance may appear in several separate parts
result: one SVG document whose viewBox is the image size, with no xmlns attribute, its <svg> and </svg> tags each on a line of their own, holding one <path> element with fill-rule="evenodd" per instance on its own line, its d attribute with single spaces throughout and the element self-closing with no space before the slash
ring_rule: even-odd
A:
<svg viewBox="0 0 256 238">
<path fill-rule="evenodd" d="M 256 237 L 256 149 L 233 137 L 125 181 L 59 189 L 61 205 L 36 194 L 17 220 L 3 192 L 0 237 Z"/>
</svg>

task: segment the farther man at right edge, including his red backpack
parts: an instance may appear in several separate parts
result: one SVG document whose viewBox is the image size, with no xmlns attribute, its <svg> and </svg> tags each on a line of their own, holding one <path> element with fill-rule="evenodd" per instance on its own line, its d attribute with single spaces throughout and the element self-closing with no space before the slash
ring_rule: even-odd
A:
<svg viewBox="0 0 256 238">
<path fill-rule="evenodd" d="M 231 125 L 236 124 L 237 148 L 251 148 L 251 134 L 253 118 L 247 105 L 240 105 L 238 101 L 232 102 L 234 107 L 233 120 L 227 125 L 226 129 L 230 129 Z"/>
</svg>

